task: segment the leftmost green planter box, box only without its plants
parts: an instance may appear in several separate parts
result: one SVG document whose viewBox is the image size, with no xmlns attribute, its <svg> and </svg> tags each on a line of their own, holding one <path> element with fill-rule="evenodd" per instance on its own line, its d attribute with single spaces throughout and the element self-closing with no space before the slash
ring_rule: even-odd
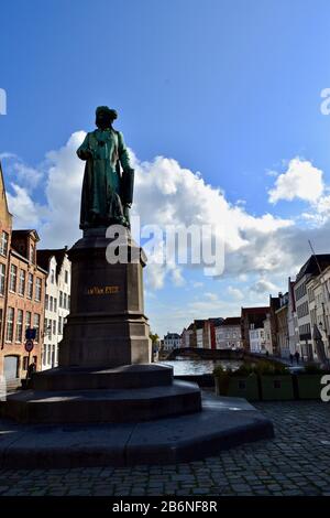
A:
<svg viewBox="0 0 330 518">
<path fill-rule="evenodd" d="M 244 398 L 248 401 L 257 401 L 260 399 L 258 382 L 255 375 L 230 376 L 227 380 L 221 381 L 219 381 L 219 378 L 215 378 L 215 384 L 218 396 Z"/>
</svg>

